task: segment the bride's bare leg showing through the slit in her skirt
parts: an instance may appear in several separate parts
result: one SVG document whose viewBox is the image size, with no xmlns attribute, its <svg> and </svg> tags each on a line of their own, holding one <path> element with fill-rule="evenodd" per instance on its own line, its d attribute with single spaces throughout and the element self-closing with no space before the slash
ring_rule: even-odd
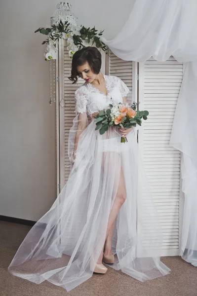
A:
<svg viewBox="0 0 197 296">
<path fill-rule="evenodd" d="M 122 170 L 122 167 L 121 167 L 121 169 L 120 169 L 120 175 L 119 175 L 119 182 L 118 182 L 117 194 L 116 194 L 116 197 L 115 197 L 115 200 L 114 200 L 112 209 L 110 211 L 108 225 L 107 225 L 107 231 L 106 231 L 105 240 L 107 239 L 108 234 L 110 236 L 108 237 L 108 240 L 107 240 L 107 243 L 108 244 L 105 244 L 106 246 L 109 246 L 109 243 L 112 241 L 110 239 L 111 239 L 112 234 L 113 234 L 113 229 L 114 229 L 113 224 L 115 223 L 115 220 L 116 220 L 116 217 L 118 215 L 118 212 L 119 212 L 122 204 L 124 203 L 125 199 L 126 199 L 126 186 L 125 186 L 125 181 L 124 181 L 123 170 Z M 109 232 L 110 230 L 111 230 L 111 232 Z M 111 249 L 111 247 L 110 247 L 110 249 Z M 104 250 L 104 246 L 103 246 L 103 248 L 101 250 L 99 259 L 97 261 L 97 264 L 102 264 L 103 250 Z M 105 255 L 110 255 L 110 254 L 107 254 L 107 252 L 106 252 Z"/>
</svg>

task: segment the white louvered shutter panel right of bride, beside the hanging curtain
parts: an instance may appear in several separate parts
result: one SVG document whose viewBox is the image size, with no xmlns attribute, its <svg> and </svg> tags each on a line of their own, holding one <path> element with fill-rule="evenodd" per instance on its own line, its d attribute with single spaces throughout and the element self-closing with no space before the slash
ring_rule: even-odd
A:
<svg viewBox="0 0 197 296">
<path fill-rule="evenodd" d="M 172 56 L 139 63 L 139 110 L 148 110 L 139 145 L 163 230 L 162 256 L 179 255 L 180 151 L 169 146 L 183 64 Z M 144 233 L 152 232 L 144 217 Z M 146 243 L 146 242 L 145 242 Z"/>
</svg>

